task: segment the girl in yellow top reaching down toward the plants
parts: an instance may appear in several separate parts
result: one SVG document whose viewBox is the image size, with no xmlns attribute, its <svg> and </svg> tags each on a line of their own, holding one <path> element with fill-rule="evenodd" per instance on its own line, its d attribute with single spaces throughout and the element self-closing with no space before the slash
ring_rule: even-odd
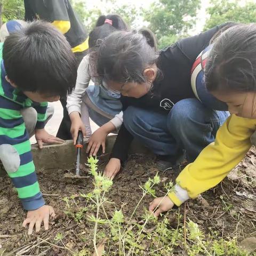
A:
<svg viewBox="0 0 256 256">
<path fill-rule="evenodd" d="M 207 90 L 227 103 L 231 115 L 215 142 L 179 174 L 174 191 L 150 203 L 156 217 L 216 186 L 256 144 L 255 23 L 233 26 L 216 39 L 204 76 Z"/>
</svg>

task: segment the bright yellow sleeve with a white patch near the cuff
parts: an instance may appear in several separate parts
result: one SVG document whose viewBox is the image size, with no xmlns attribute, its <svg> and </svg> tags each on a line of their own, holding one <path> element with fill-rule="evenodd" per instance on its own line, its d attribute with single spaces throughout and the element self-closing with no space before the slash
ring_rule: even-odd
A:
<svg viewBox="0 0 256 256">
<path fill-rule="evenodd" d="M 231 115 L 217 132 L 215 142 L 178 176 L 169 194 L 173 203 L 180 206 L 221 182 L 250 149 L 255 127 L 256 119 Z"/>
</svg>

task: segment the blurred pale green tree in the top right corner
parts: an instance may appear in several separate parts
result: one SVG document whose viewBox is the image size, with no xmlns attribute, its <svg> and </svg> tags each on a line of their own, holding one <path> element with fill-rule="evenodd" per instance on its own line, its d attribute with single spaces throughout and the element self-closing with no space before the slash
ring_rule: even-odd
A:
<svg viewBox="0 0 256 256">
<path fill-rule="evenodd" d="M 241 1 L 212 0 L 211 6 L 207 8 L 210 17 L 206 20 L 204 30 L 212 28 L 227 21 L 242 23 L 256 22 L 256 3 Z"/>
</svg>

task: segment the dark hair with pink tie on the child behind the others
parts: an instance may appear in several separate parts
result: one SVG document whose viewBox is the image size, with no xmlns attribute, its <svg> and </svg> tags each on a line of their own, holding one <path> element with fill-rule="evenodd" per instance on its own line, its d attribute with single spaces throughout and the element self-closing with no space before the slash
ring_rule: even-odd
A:
<svg viewBox="0 0 256 256">
<path fill-rule="evenodd" d="M 106 19 L 112 22 L 112 25 L 105 23 Z M 89 48 L 93 48 L 100 44 L 104 38 L 117 30 L 128 30 L 125 21 L 117 14 L 101 15 L 95 28 L 89 34 Z"/>
</svg>

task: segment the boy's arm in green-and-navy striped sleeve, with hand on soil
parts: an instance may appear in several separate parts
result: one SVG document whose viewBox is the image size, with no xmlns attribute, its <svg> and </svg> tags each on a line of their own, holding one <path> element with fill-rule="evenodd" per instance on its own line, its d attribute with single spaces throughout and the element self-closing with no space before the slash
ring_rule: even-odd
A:
<svg viewBox="0 0 256 256">
<path fill-rule="evenodd" d="M 44 206 L 45 202 L 37 182 L 29 136 L 20 114 L 20 106 L 1 97 L 0 114 L 0 159 L 17 189 L 23 208 L 28 211 L 25 221 L 30 223 L 29 234 L 32 233 L 36 222 L 36 231 L 40 229 L 42 221 L 47 229 L 51 207 Z M 31 211 L 33 211 L 33 219 L 30 218 Z M 51 212 L 53 213 L 53 209 Z"/>
</svg>

